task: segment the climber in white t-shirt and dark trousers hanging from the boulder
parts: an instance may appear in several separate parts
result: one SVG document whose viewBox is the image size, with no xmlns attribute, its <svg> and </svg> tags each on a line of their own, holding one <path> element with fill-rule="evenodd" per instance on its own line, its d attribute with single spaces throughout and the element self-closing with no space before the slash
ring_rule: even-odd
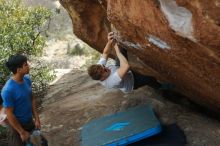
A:
<svg viewBox="0 0 220 146">
<path fill-rule="evenodd" d="M 107 60 L 114 47 L 117 56 L 115 65 L 108 65 Z M 108 34 L 108 42 L 97 64 L 88 68 L 88 74 L 94 80 L 99 80 L 106 88 L 118 88 L 124 93 L 129 93 L 139 87 L 148 85 L 154 89 L 170 89 L 172 84 L 160 84 L 154 77 L 146 76 L 129 69 L 127 52 L 120 49 L 115 43 L 114 33 Z"/>
</svg>

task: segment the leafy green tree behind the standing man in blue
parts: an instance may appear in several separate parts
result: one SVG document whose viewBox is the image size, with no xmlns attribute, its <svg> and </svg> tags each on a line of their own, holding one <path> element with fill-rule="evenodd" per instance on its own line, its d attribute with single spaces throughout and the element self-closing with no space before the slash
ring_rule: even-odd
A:
<svg viewBox="0 0 220 146">
<path fill-rule="evenodd" d="M 12 54 L 22 53 L 33 58 L 42 55 L 45 46 L 47 21 L 51 12 L 44 7 L 27 7 L 22 0 L 0 0 L 0 83 L 4 84 L 10 76 L 5 61 Z M 35 63 L 36 64 L 36 63 Z M 31 72 L 35 93 L 48 85 L 53 78 L 50 69 L 37 63 Z M 39 87 L 40 86 L 40 87 Z M 45 92 L 44 92 L 45 93 Z M 42 95 L 42 94 L 41 94 Z"/>
</svg>

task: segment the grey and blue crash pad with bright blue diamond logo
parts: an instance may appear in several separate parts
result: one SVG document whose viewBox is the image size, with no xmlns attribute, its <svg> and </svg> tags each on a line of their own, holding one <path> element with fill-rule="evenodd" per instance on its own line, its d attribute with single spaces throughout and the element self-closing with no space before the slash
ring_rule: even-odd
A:
<svg viewBox="0 0 220 146">
<path fill-rule="evenodd" d="M 82 146 L 123 146 L 161 132 L 151 106 L 139 106 L 85 124 Z"/>
</svg>

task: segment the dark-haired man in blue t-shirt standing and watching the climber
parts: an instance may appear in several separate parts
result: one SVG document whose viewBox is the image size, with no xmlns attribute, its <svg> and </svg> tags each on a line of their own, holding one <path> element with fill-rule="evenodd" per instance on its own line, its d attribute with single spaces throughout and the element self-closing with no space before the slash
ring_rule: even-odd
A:
<svg viewBox="0 0 220 146">
<path fill-rule="evenodd" d="M 29 65 L 25 56 L 17 54 L 9 57 L 6 66 L 13 73 L 1 92 L 3 107 L 10 124 L 9 142 L 10 146 L 25 146 L 30 132 L 40 128 L 31 80 L 27 75 Z"/>
</svg>

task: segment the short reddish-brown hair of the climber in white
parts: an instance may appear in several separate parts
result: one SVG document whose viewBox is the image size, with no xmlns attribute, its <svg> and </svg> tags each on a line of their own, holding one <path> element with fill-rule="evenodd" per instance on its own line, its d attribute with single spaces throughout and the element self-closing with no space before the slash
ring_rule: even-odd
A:
<svg viewBox="0 0 220 146">
<path fill-rule="evenodd" d="M 103 73 L 103 66 L 100 64 L 91 65 L 88 69 L 88 74 L 93 80 L 100 80 Z"/>
</svg>

